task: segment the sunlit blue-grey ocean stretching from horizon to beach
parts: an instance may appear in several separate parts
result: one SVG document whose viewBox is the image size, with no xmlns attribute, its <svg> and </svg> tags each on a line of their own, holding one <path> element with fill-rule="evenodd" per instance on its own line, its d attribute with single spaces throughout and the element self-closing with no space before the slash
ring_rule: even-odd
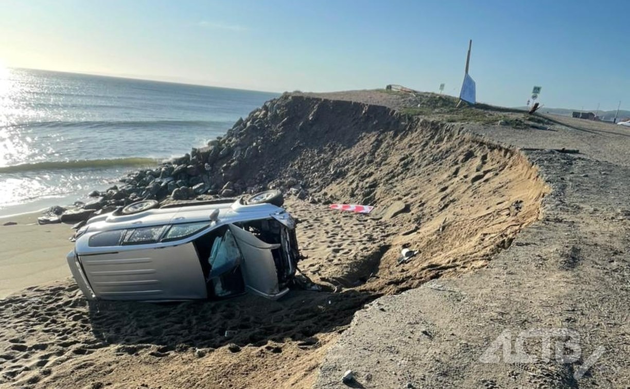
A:
<svg viewBox="0 0 630 389">
<path fill-rule="evenodd" d="M 66 205 L 224 135 L 278 94 L 0 69 L 0 217 Z"/>
</svg>

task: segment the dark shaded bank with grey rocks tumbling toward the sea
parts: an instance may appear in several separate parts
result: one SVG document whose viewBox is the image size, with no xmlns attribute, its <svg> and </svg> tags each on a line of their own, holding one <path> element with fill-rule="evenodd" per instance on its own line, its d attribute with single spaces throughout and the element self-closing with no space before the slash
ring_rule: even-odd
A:
<svg viewBox="0 0 630 389">
<path fill-rule="evenodd" d="M 153 169 L 140 169 L 94 200 L 55 208 L 40 222 L 77 222 L 139 200 L 162 202 L 232 197 L 281 189 L 302 200 L 329 202 L 324 186 L 345 175 L 331 165 L 361 133 L 402 130 L 406 116 L 383 106 L 284 94 L 239 119 L 224 137 Z M 57 220 L 57 218 L 59 220 Z"/>
</svg>

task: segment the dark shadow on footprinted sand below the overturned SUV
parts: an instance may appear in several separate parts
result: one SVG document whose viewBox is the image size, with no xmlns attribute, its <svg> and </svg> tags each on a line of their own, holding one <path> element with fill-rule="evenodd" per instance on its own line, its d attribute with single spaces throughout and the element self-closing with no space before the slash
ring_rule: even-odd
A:
<svg viewBox="0 0 630 389">
<path fill-rule="evenodd" d="M 99 302 L 89 316 L 97 339 L 132 346 L 125 350 L 131 354 L 149 345 L 159 346 L 154 351 L 159 354 L 289 339 L 308 347 L 318 341 L 315 334 L 350 324 L 354 313 L 377 297 L 352 290 L 292 291 L 277 302 L 252 295 L 219 302 Z"/>
</svg>

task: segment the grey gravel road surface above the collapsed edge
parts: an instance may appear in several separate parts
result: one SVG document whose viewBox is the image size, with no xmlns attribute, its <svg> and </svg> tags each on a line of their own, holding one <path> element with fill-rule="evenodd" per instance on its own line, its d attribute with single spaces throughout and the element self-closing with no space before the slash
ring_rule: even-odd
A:
<svg viewBox="0 0 630 389">
<path fill-rule="evenodd" d="M 549 118 L 571 127 L 465 125 L 516 147 L 580 150 L 526 152 L 552 188 L 541 220 L 484 269 L 358 311 L 327 352 L 317 388 L 348 387 L 347 370 L 350 386 L 365 388 L 629 387 L 630 132 Z M 514 342 L 527 334 L 529 361 L 515 358 Z M 482 358 L 500 335 L 512 354 L 501 352 L 510 342 L 495 342 L 495 358 Z"/>
</svg>

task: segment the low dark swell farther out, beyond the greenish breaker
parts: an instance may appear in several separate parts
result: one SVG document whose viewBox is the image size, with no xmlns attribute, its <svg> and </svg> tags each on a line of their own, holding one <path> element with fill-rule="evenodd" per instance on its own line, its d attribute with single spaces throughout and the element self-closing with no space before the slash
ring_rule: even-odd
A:
<svg viewBox="0 0 630 389">
<path fill-rule="evenodd" d="M 232 121 L 219 120 L 130 120 L 130 121 L 29 121 L 26 123 L 16 123 L 0 126 L 0 128 L 24 128 L 24 127 L 44 127 L 44 128 L 151 128 L 151 127 L 219 127 L 229 128 Z"/>
</svg>

